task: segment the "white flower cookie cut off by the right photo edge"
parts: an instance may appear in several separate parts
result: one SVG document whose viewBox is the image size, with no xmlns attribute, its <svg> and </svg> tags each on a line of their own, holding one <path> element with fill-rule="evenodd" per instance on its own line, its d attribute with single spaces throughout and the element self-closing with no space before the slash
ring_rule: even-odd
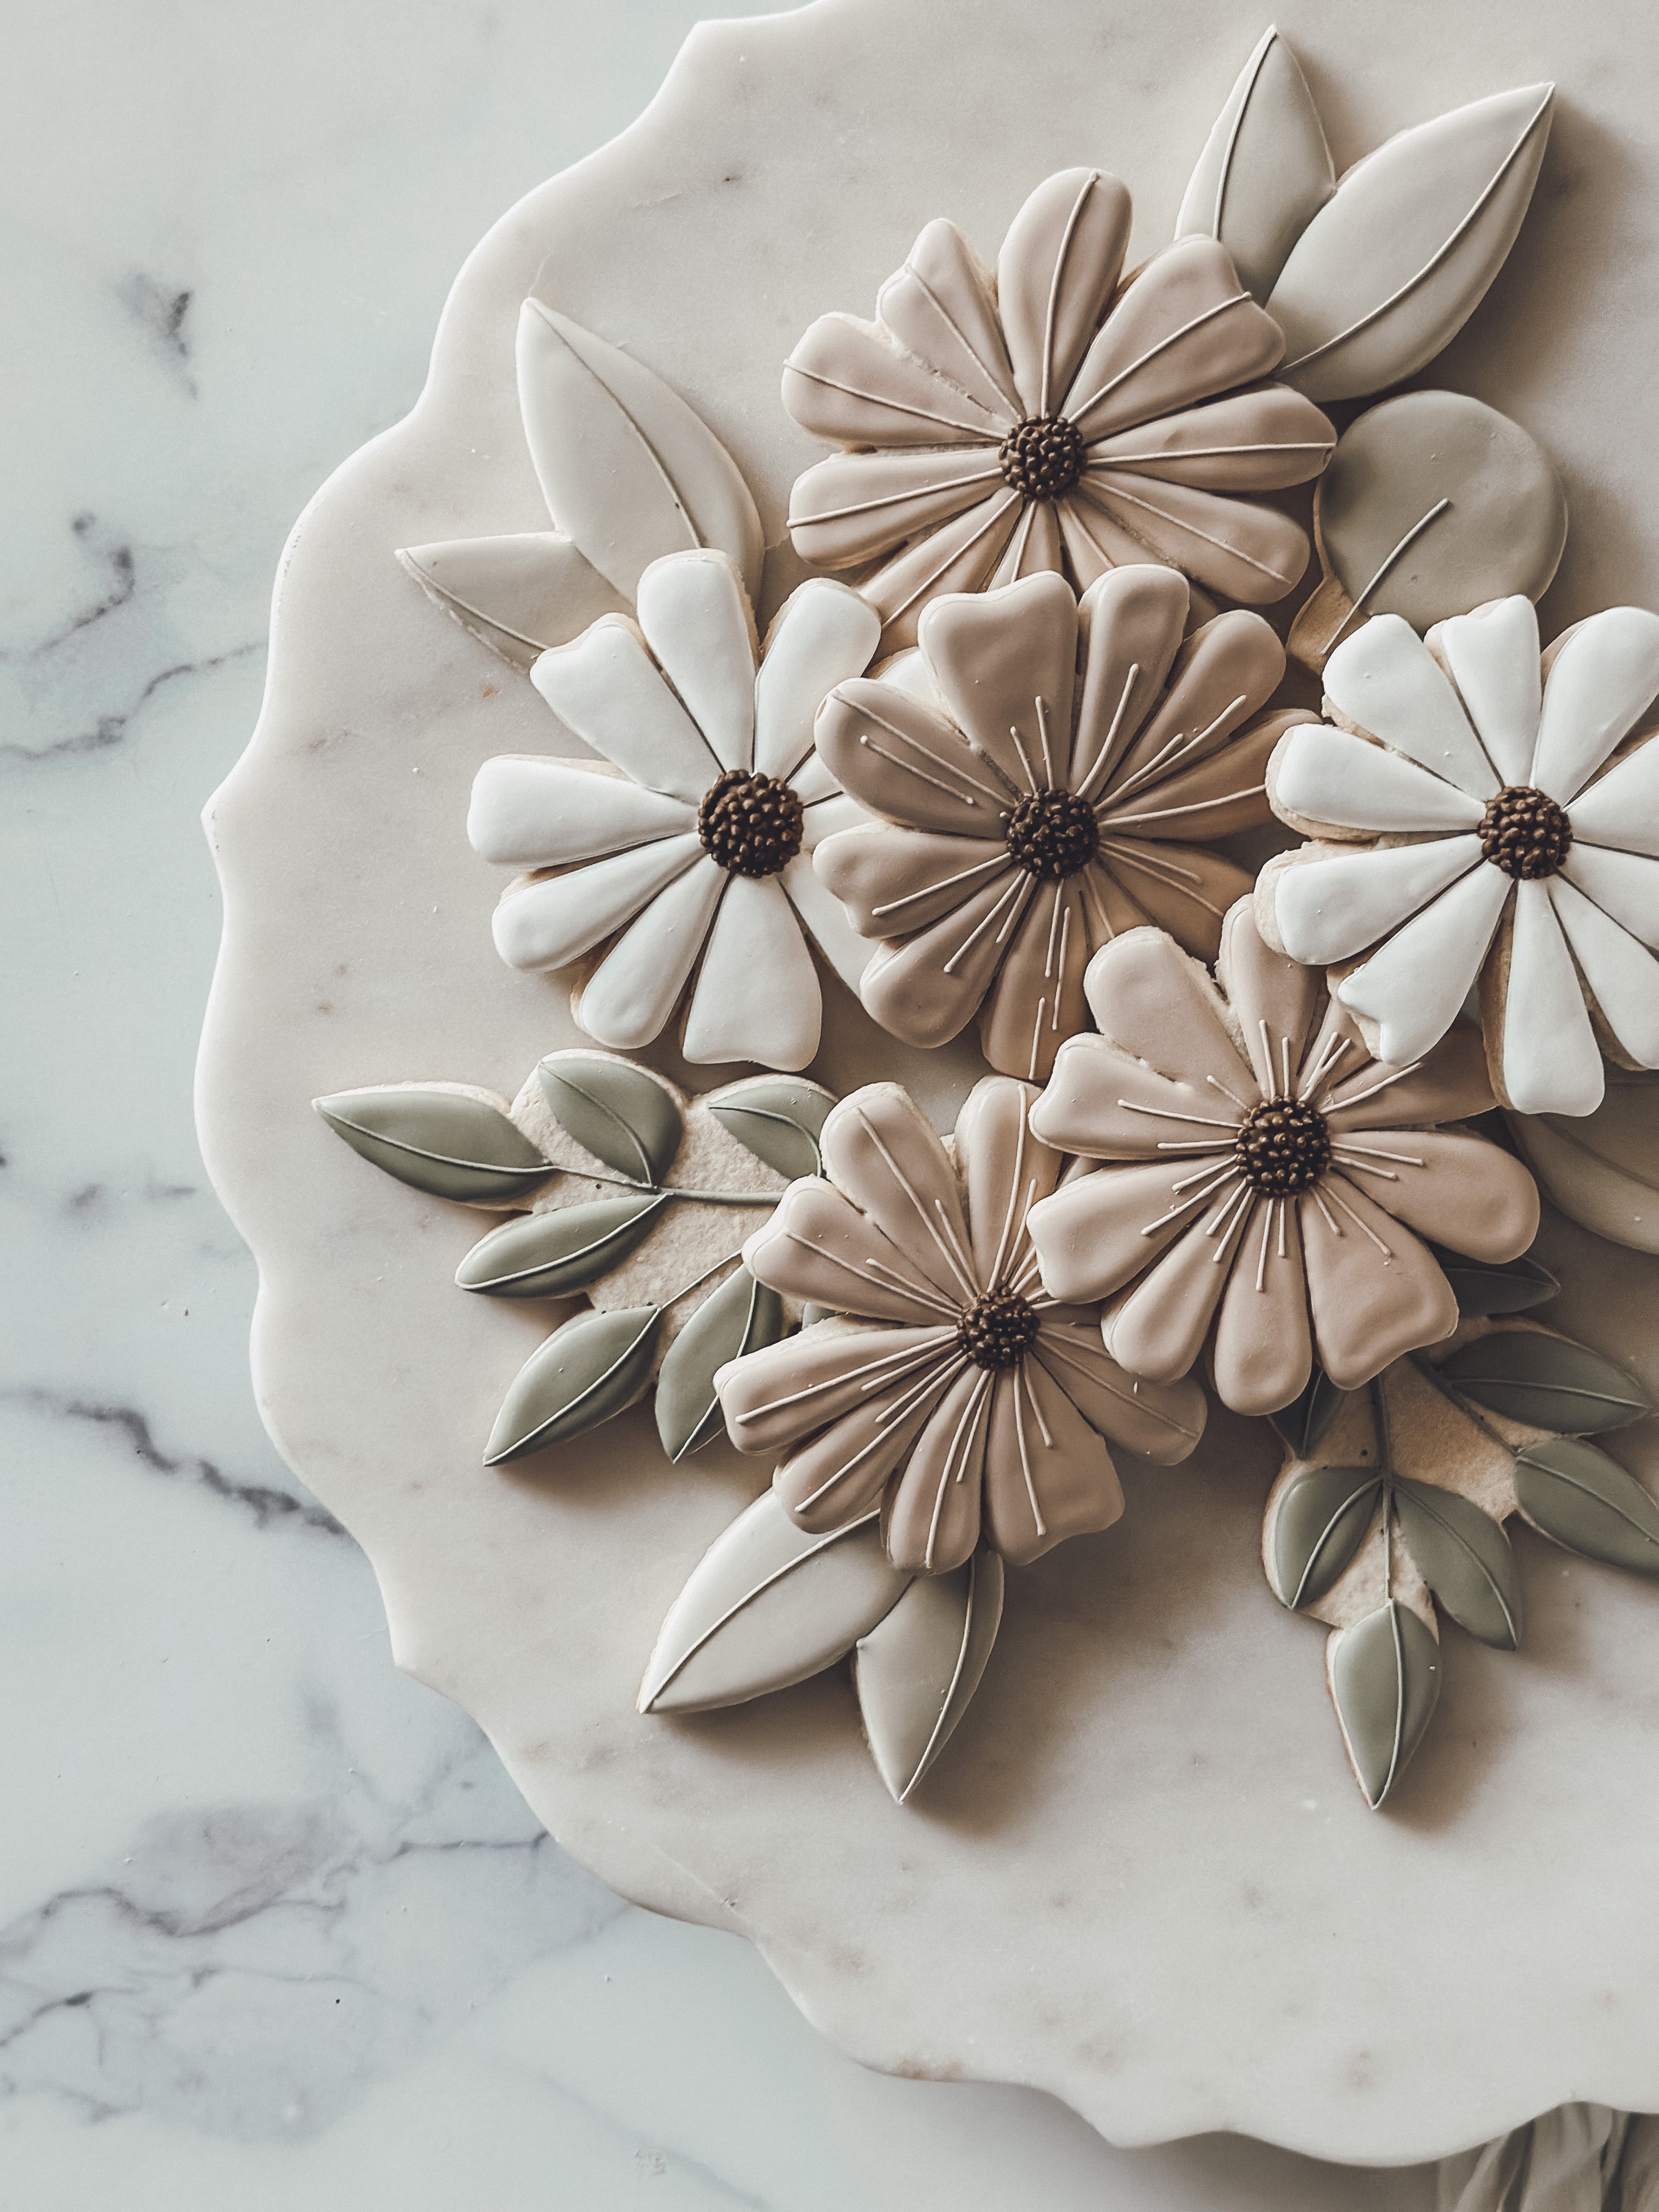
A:
<svg viewBox="0 0 1659 2212">
<path fill-rule="evenodd" d="M 1639 606 L 1579 622 L 1542 664 L 1522 597 L 1427 644 L 1378 615 L 1325 666 L 1334 726 L 1294 730 L 1267 768 L 1274 812 L 1334 843 L 1263 874 L 1261 927 L 1343 969 L 1336 995 L 1385 1060 L 1427 1053 L 1480 975 L 1504 1104 L 1593 1113 L 1601 1051 L 1659 1066 L 1655 692 L 1659 615 Z"/>
</svg>

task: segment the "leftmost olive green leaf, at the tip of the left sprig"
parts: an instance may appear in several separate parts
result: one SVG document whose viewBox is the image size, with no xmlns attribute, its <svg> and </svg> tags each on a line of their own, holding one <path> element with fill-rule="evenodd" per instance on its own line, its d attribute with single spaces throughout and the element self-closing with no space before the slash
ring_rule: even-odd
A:
<svg viewBox="0 0 1659 2212">
<path fill-rule="evenodd" d="M 434 1199 L 513 1206 L 557 1172 L 498 1106 L 465 1091 L 336 1091 L 312 1106 L 354 1152 Z"/>
</svg>

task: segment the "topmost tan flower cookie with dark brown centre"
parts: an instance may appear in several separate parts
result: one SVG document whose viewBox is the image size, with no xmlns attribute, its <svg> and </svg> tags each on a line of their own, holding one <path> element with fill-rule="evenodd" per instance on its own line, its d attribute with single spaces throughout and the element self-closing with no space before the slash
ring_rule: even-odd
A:
<svg viewBox="0 0 1659 2212">
<path fill-rule="evenodd" d="M 933 221 L 876 296 L 825 314 L 783 405 L 845 447 L 796 482 L 803 560 L 863 568 L 883 650 L 940 591 L 1062 568 L 1082 591 L 1159 560 L 1265 606 L 1307 566 L 1305 533 L 1237 493 L 1318 476 L 1336 431 L 1259 385 L 1285 349 L 1214 239 L 1177 239 L 1119 290 L 1130 201 L 1068 168 L 1026 199 L 995 274 Z M 1250 387 L 1250 389 L 1239 389 Z"/>
</svg>

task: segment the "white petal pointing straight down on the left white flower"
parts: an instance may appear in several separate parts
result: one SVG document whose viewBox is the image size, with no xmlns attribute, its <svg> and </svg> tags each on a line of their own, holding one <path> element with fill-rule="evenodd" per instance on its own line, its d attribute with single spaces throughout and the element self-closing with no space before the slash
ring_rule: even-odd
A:
<svg viewBox="0 0 1659 2212">
<path fill-rule="evenodd" d="M 582 1006 L 586 1020 L 586 995 Z M 821 1024 L 818 971 L 783 887 L 776 876 L 732 876 L 686 1013 L 686 1060 L 803 1068 Z"/>
</svg>

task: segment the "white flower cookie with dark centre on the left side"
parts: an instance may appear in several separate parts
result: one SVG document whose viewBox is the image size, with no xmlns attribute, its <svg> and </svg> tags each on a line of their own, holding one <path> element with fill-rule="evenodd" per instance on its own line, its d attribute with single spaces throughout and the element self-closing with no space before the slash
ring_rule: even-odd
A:
<svg viewBox="0 0 1659 2212">
<path fill-rule="evenodd" d="M 502 754 L 478 772 L 467 836 L 535 872 L 502 894 L 495 949 L 509 967 L 562 969 L 615 938 L 575 993 L 599 1044 L 650 1044 L 690 984 L 686 1060 L 803 1068 L 823 1018 L 803 925 L 852 989 L 869 958 L 812 874 L 818 838 L 863 821 L 812 752 L 812 717 L 867 666 L 876 617 L 814 577 L 757 670 L 723 553 L 653 562 L 637 613 L 637 628 L 606 615 L 531 670 L 602 761 Z"/>
</svg>

